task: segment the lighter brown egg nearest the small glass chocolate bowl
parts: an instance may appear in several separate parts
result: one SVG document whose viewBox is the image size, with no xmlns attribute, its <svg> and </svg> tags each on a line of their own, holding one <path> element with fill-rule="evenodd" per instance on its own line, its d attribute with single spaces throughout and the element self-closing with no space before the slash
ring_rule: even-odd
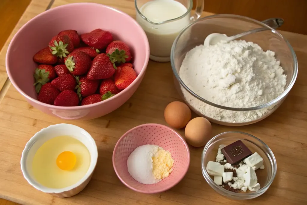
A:
<svg viewBox="0 0 307 205">
<path fill-rule="evenodd" d="M 204 146 L 212 138 L 212 127 L 209 120 L 196 117 L 185 127 L 185 138 L 193 147 Z"/>
</svg>

